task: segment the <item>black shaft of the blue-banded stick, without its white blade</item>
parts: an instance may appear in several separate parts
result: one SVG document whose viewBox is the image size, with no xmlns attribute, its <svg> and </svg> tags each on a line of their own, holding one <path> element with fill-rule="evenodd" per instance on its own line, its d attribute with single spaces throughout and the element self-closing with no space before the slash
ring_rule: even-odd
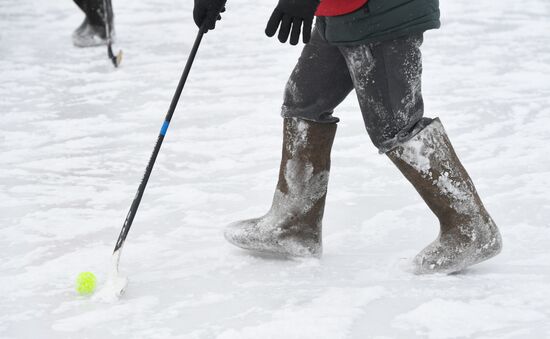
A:
<svg viewBox="0 0 550 339">
<path fill-rule="evenodd" d="M 126 216 L 126 220 L 124 221 L 124 225 L 122 226 L 122 230 L 120 231 L 120 235 L 118 237 L 114 252 L 122 248 L 124 242 L 126 241 L 126 237 L 128 236 L 128 232 L 132 227 L 132 223 L 139 208 L 141 198 L 143 197 L 143 193 L 145 192 L 145 187 L 147 187 L 147 182 L 149 181 L 149 177 L 151 176 L 151 172 L 153 171 L 153 166 L 155 165 L 155 161 L 157 160 L 157 156 L 160 152 L 160 147 L 162 146 L 164 136 L 166 135 L 166 131 L 168 130 L 168 126 L 170 125 L 170 121 L 172 120 L 172 116 L 174 115 L 174 111 L 176 110 L 176 106 L 178 105 L 178 101 L 183 91 L 183 87 L 185 86 L 185 82 L 187 81 L 187 77 L 189 76 L 189 72 L 191 71 L 191 66 L 193 65 L 195 56 L 197 55 L 197 51 L 199 49 L 203 35 L 204 30 L 201 28 L 199 30 L 199 33 L 197 34 L 197 37 L 195 38 L 195 43 L 193 44 L 193 48 L 191 49 L 191 53 L 189 54 L 189 58 L 187 59 L 185 69 L 183 70 L 183 74 L 181 75 L 178 87 L 176 88 L 176 92 L 172 97 L 172 102 L 170 103 L 170 108 L 168 109 L 168 113 L 166 114 L 166 118 L 164 119 L 164 123 L 157 138 L 157 143 L 155 144 L 155 148 L 153 149 L 153 153 L 151 154 L 149 163 L 145 168 L 145 173 L 143 174 L 143 178 L 141 179 L 141 183 L 139 184 L 137 193 L 134 197 L 134 201 L 130 206 L 130 211 L 128 211 L 128 215 Z"/>
</svg>

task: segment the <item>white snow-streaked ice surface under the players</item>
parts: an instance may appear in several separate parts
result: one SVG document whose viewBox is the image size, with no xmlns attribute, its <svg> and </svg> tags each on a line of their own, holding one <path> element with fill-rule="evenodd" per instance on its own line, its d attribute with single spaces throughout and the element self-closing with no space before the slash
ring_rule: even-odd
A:
<svg viewBox="0 0 550 339">
<path fill-rule="evenodd" d="M 273 3 L 230 2 L 206 35 L 122 253 L 130 284 L 104 304 L 74 278 L 105 282 L 196 34 L 192 1 L 114 1 L 115 70 L 105 48 L 72 47 L 71 1 L 0 0 L 0 338 L 550 338 L 550 3 L 442 1 L 426 34 L 426 115 L 505 244 L 451 276 L 410 273 L 438 225 L 354 95 L 337 112 L 323 258 L 223 239 L 277 181 L 300 49 L 264 37 Z"/>
</svg>

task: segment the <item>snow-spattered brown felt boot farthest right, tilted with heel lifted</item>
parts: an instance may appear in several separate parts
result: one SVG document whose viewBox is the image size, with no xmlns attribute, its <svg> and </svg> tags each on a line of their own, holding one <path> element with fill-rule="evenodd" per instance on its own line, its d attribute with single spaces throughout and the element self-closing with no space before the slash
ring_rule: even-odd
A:
<svg viewBox="0 0 550 339">
<path fill-rule="evenodd" d="M 387 153 L 439 219 L 439 237 L 414 259 L 417 273 L 452 273 L 500 253 L 500 232 L 439 119 Z"/>
</svg>

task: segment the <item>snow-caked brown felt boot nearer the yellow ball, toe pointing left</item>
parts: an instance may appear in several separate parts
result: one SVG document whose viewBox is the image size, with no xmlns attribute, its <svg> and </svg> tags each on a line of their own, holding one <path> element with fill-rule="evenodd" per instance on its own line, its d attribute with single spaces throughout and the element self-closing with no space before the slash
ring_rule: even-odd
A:
<svg viewBox="0 0 550 339">
<path fill-rule="evenodd" d="M 232 244 L 265 253 L 319 257 L 336 124 L 284 119 L 279 182 L 269 212 L 225 230 Z"/>
</svg>

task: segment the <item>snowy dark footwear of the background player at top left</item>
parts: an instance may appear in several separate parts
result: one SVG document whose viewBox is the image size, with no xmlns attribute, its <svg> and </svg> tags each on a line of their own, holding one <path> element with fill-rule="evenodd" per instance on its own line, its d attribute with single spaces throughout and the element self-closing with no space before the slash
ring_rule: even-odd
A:
<svg viewBox="0 0 550 339">
<path fill-rule="evenodd" d="M 74 0 L 84 12 L 82 24 L 73 32 L 76 47 L 95 47 L 114 41 L 113 8 L 111 0 Z"/>
</svg>

